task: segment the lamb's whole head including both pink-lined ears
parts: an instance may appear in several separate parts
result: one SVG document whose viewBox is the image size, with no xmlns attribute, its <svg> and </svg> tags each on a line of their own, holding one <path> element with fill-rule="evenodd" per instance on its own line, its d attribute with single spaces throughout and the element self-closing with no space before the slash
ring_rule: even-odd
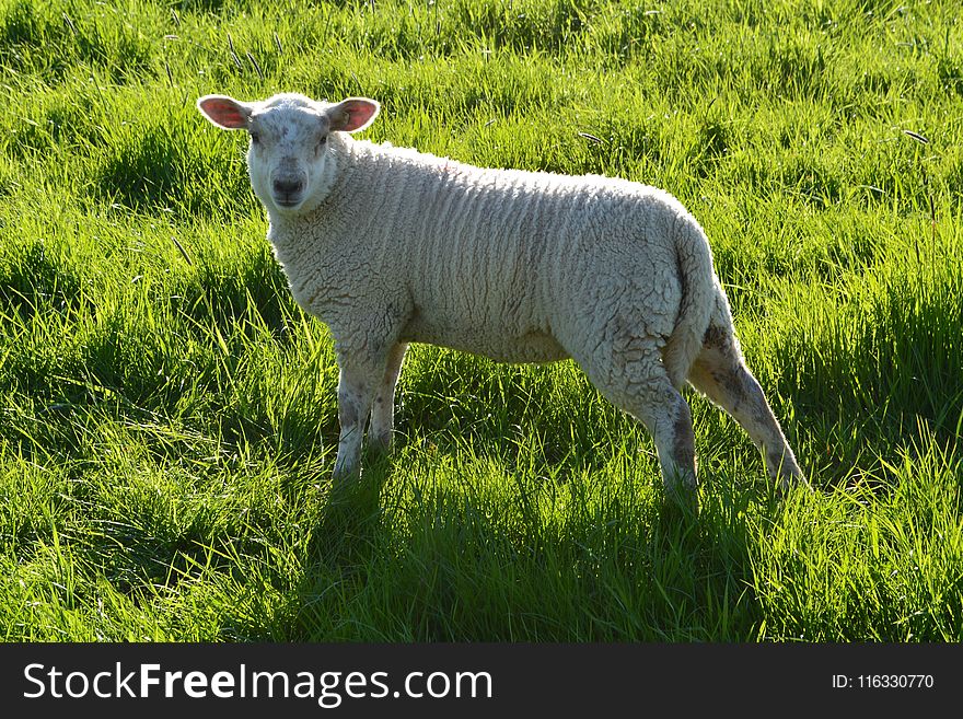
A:
<svg viewBox="0 0 963 719">
<path fill-rule="evenodd" d="M 298 94 L 280 94 L 262 102 L 239 102 L 225 95 L 205 95 L 197 108 L 228 130 L 247 130 L 247 171 L 254 193 L 269 212 L 298 212 L 329 185 L 332 132 L 356 132 L 368 127 L 379 105 L 367 97 L 336 104 Z"/>
</svg>

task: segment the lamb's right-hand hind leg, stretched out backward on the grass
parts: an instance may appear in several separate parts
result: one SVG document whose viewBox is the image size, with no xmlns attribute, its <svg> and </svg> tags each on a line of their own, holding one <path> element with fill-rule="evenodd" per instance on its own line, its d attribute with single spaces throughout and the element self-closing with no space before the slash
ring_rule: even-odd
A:
<svg viewBox="0 0 963 719">
<path fill-rule="evenodd" d="M 749 371 L 731 324 L 713 320 L 688 381 L 738 421 L 759 448 L 780 489 L 805 483 L 759 383 Z"/>
</svg>

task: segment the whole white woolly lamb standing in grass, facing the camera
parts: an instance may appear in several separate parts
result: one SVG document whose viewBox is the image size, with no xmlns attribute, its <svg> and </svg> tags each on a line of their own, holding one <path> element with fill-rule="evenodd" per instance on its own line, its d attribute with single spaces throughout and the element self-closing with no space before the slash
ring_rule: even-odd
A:
<svg viewBox="0 0 963 719">
<path fill-rule="evenodd" d="M 572 358 L 652 434 L 664 486 L 695 501 L 687 381 L 763 453 L 777 487 L 805 484 L 746 368 L 708 241 L 654 187 L 597 175 L 483 169 L 356 140 L 366 97 L 206 95 L 216 126 L 250 134 L 251 183 L 298 304 L 335 340 L 334 478 L 386 451 L 409 343 L 506 362 Z"/>
</svg>

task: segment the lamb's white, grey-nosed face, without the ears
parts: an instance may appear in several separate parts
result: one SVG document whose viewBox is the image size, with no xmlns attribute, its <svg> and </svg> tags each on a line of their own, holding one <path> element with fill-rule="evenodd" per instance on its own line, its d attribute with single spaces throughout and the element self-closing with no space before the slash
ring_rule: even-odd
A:
<svg viewBox="0 0 963 719">
<path fill-rule="evenodd" d="M 247 170 L 269 210 L 297 212 L 325 174 L 330 119 L 313 103 L 265 103 L 247 123 Z"/>
</svg>

